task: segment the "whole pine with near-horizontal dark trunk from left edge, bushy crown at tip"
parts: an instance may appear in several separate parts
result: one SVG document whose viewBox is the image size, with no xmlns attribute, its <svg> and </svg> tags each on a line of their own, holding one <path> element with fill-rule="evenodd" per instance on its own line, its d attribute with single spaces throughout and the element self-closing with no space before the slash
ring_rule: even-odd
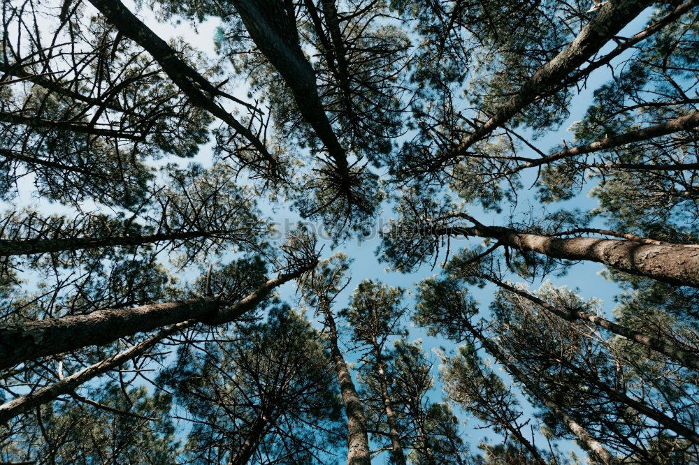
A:
<svg viewBox="0 0 699 465">
<path fill-rule="evenodd" d="M 92 212 L 73 218 L 43 218 L 37 212 L 8 214 L 2 221 L 0 257 L 166 244 L 193 260 L 222 249 L 226 240 L 240 249 L 260 249 L 264 221 L 256 212 L 252 193 L 235 184 L 235 173 L 228 167 L 201 170 L 194 165 L 171 169 L 167 175 L 168 184 L 154 186 L 145 205 L 128 218 Z M 139 219 L 145 219 L 145 224 Z"/>
</svg>

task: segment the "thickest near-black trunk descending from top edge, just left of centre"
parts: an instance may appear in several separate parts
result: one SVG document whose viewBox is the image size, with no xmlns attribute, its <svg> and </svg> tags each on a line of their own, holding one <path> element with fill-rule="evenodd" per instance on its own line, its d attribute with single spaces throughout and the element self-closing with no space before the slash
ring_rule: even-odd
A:
<svg viewBox="0 0 699 465">
<path fill-rule="evenodd" d="M 325 114 L 315 72 L 298 43 L 293 11 L 285 8 L 279 0 L 233 0 L 233 5 L 255 45 L 291 89 L 298 111 L 322 140 L 340 170 L 343 182 L 349 182 L 347 154 Z"/>
</svg>

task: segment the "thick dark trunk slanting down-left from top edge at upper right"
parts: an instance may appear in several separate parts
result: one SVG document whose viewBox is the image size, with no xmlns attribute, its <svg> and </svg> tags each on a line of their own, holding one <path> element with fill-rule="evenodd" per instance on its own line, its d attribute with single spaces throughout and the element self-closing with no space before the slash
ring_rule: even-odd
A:
<svg viewBox="0 0 699 465">
<path fill-rule="evenodd" d="M 445 158 L 448 160 L 463 155 L 471 145 L 507 123 L 537 98 L 558 91 L 566 76 L 596 54 L 652 3 L 650 0 L 607 1 L 565 50 L 534 73 L 519 89 L 517 95 L 500 105 L 488 121 L 461 140 L 456 150 L 445 154 Z"/>
</svg>

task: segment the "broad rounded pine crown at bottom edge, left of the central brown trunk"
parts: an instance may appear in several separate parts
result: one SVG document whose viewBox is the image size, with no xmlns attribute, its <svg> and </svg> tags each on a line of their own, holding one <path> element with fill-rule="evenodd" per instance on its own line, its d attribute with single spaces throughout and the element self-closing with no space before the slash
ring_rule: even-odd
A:
<svg viewBox="0 0 699 465">
<path fill-rule="evenodd" d="M 308 320 L 275 307 L 266 323 L 182 346 L 160 381 L 194 420 L 197 463 L 324 463 L 344 426 L 332 371 Z"/>
</svg>

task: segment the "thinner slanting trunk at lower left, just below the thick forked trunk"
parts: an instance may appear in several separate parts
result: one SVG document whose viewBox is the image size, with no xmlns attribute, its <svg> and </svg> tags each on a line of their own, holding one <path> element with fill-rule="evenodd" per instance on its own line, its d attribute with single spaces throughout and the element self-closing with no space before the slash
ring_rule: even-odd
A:
<svg viewBox="0 0 699 465">
<path fill-rule="evenodd" d="M 59 395 L 71 394 L 83 383 L 87 383 L 87 381 L 91 380 L 92 378 L 96 378 L 97 376 L 110 371 L 110 369 L 128 362 L 134 357 L 138 357 L 138 355 L 145 353 L 146 350 L 150 349 L 165 337 L 168 337 L 175 332 L 184 330 L 187 327 L 194 325 L 194 323 L 196 322 L 184 321 L 164 330 L 160 330 L 151 337 L 139 342 L 134 346 L 131 346 L 131 348 L 128 348 L 117 355 L 100 360 L 99 362 L 92 364 L 75 374 L 72 374 L 71 376 L 66 376 L 66 378 L 59 380 L 53 385 L 46 386 L 45 388 L 41 388 L 29 394 L 17 397 L 16 399 L 0 405 L 0 424 L 7 422 L 11 418 L 20 415 L 21 413 L 30 411 L 37 406 L 46 404 Z"/>
</svg>

